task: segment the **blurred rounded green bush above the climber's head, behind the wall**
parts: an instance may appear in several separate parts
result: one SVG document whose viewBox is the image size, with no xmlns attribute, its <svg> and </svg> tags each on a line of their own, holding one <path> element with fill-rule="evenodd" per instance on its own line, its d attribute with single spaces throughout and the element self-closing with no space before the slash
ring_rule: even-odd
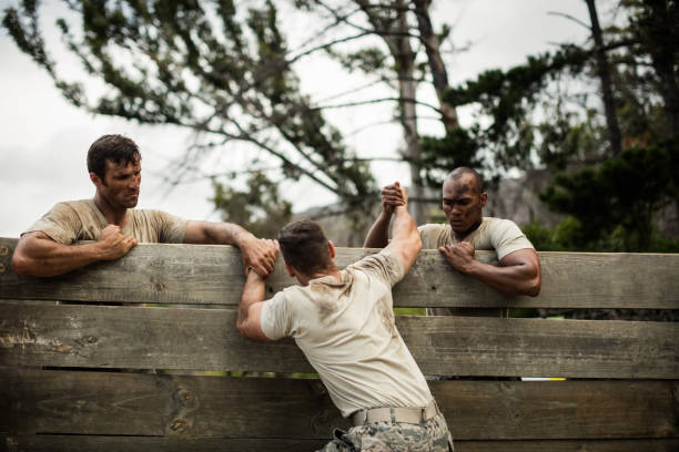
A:
<svg viewBox="0 0 679 452">
<path fill-rule="evenodd" d="M 292 204 L 281 198 L 278 186 L 263 173 L 252 173 L 245 191 L 213 181 L 215 208 L 225 222 L 243 226 L 257 237 L 276 238 L 290 223 Z"/>
</svg>

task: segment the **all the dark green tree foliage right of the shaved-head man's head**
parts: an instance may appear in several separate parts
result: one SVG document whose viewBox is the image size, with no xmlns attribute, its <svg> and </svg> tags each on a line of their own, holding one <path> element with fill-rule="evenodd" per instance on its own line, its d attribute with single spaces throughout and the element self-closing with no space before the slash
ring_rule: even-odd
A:
<svg viewBox="0 0 679 452">
<path fill-rule="evenodd" d="M 488 126 L 470 129 L 464 141 L 424 138 L 420 171 L 427 181 L 440 183 L 446 171 L 463 162 L 486 177 L 546 167 L 558 174 L 541 198 L 569 217 L 554 230 L 528 227 L 539 249 L 672 248 L 672 240 L 655 236 L 652 225 L 657 213 L 679 198 L 679 9 L 668 0 L 627 0 L 620 7 L 628 23 L 606 30 L 622 132 L 618 155 L 601 112 L 582 89 L 601 83 L 594 52 L 564 45 L 450 89 L 446 100 L 474 105 L 478 122 Z"/>
</svg>

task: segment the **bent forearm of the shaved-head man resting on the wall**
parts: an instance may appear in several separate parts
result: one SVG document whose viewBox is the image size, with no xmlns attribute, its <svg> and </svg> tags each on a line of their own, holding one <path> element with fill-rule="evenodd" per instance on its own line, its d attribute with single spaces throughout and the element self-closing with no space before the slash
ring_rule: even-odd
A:
<svg viewBox="0 0 679 452">
<path fill-rule="evenodd" d="M 536 297 L 540 292 L 540 260 L 534 249 L 518 249 L 500 260 L 500 266 L 484 264 L 474 257 L 474 246 L 463 242 L 438 248 L 453 268 L 472 276 L 506 295 Z"/>
</svg>

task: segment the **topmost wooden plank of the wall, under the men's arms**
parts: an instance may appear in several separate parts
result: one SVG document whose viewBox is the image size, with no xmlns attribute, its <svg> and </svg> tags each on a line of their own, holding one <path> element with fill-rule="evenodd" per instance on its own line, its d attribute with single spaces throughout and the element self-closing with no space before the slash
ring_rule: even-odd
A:
<svg viewBox="0 0 679 452">
<path fill-rule="evenodd" d="M 59 278 L 11 271 L 16 238 L 0 238 L 0 299 L 55 299 L 159 304 L 237 305 L 243 285 L 240 251 L 230 246 L 142 244 L 122 259 L 99 263 Z M 338 248 L 343 268 L 374 253 Z M 494 263 L 495 254 L 477 258 Z M 423 250 L 396 286 L 395 306 L 470 308 L 679 309 L 679 255 L 540 253 L 538 297 L 505 297 L 453 270 L 436 250 Z M 294 284 L 281 259 L 267 280 L 273 294 Z"/>
</svg>

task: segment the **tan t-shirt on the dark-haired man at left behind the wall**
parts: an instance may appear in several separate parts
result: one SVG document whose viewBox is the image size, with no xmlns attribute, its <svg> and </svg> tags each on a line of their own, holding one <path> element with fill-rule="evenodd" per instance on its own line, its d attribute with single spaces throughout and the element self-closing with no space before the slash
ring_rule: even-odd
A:
<svg viewBox="0 0 679 452">
<path fill-rule="evenodd" d="M 142 243 L 181 244 L 186 232 L 185 219 L 162 210 L 128 209 L 126 236 Z M 109 223 L 92 199 L 58 203 L 26 233 L 41 230 L 54 242 L 70 245 L 78 240 L 98 240 Z"/>
</svg>

